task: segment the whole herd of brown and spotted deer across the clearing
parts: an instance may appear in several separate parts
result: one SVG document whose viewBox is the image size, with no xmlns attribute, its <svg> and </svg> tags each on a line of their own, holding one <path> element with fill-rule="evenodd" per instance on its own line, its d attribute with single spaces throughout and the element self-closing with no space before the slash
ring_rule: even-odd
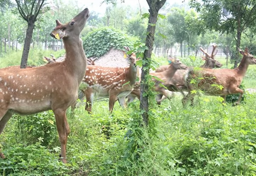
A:
<svg viewBox="0 0 256 176">
<path fill-rule="evenodd" d="M 56 20 L 56 27 L 50 35 L 63 40 L 65 60 L 58 62 L 55 58 L 45 57 L 48 63 L 44 66 L 27 69 L 10 66 L 0 69 L 0 134 L 13 113 L 29 115 L 52 110 L 63 163 L 66 163 L 66 143 L 70 133 L 66 110 L 69 106 L 75 108 L 80 83 L 83 82 L 85 88 L 80 88 L 82 95 L 79 98 L 86 97 L 85 109 L 90 113 L 95 96 L 109 98 L 110 112 L 113 111 L 116 100 L 125 107 L 126 98 L 128 102 L 136 97 L 140 99 L 140 82 L 137 78 L 140 77 L 141 69 L 136 66 L 138 58 L 135 53 L 129 52 L 129 47 L 124 46 L 129 53 L 125 54 L 129 62 L 126 68 L 97 66 L 95 59 L 86 58 L 80 33 L 89 16 L 89 10 L 86 8 L 68 23 L 62 24 Z M 155 83 L 157 103 L 160 104 L 166 98 L 170 99 L 166 92 L 169 90 L 182 93 L 183 105 L 188 100 L 193 105 L 195 94 L 191 91 L 202 90 L 207 95 L 221 96 L 224 101 L 226 95 L 240 93 L 236 102 L 238 105 L 243 94 L 239 85 L 249 64 L 256 64 L 256 59 L 246 48 L 245 51 L 240 50 L 243 58 L 237 68 L 214 69 L 222 66 L 214 59 L 216 47 L 213 45 L 211 54 L 200 48 L 204 53 L 205 63 L 199 69 L 188 67 L 180 60 L 170 57 L 169 65 L 160 66 L 150 73 Z M 4 158 L 1 152 L 0 157 Z"/>
</svg>

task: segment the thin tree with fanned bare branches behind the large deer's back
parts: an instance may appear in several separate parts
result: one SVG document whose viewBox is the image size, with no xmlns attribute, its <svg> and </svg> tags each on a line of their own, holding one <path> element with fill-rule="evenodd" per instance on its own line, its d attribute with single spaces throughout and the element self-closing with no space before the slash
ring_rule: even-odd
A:
<svg viewBox="0 0 256 176">
<path fill-rule="evenodd" d="M 48 10 L 42 7 L 45 6 L 45 0 L 15 0 L 17 3 L 17 9 L 21 14 L 21 17 L 27 21 L 28 28 L 26 31 L 26 37 L 24 41 L 24 47 L 21 57 L 21 68 L 26 68 L 28 63 L 28 53 L 30 49 L 30 43 L 33 35 L 33 30 L 35 28 L 35 22 L 38 20 L 39 13 L 44 13 Z"/>
</svg>

